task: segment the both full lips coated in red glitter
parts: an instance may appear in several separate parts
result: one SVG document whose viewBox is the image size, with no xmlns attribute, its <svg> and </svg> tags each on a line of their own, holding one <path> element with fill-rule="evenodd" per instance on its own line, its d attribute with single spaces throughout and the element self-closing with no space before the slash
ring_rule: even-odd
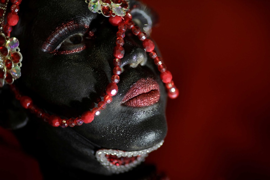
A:
<svg viewBox="0 0 270 180">
<path fill-rule="evenodd" d="M 122 104 L 143 107 L 157 103 L 160 98 L 159 85 L 152 78 L 140 79 L 127 91 Z"/>
</svg>

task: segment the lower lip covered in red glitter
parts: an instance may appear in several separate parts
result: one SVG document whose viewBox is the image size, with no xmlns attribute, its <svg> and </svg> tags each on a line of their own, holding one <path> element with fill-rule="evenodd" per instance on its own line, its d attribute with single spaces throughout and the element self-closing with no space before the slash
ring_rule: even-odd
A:
<svg viewBox="0 0 270 180">
<path fill-rule="evenodd" d="M 130 107 L 143 107 L 150 106 L 159 101 L 160 92 L 159 90 L 151 90 L 147 93 L 143 93 L 133 97 L 124 104 Z"/>
</svg>

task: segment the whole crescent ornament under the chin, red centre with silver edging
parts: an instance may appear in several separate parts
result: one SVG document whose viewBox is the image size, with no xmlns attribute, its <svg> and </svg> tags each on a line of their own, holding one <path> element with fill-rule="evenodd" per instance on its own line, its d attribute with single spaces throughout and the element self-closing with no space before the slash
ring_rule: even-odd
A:
<svg viewBox="0 0 270 180">
<path fill-rule="evenodd" d="M 150 152 L 157 150 L 164 141 L 141 151 L 120 151 L 100 149 L 96 152 L 97 160 L 110 172 L 119 174 L 127 172 L 142 163 Z"/>
</svg>

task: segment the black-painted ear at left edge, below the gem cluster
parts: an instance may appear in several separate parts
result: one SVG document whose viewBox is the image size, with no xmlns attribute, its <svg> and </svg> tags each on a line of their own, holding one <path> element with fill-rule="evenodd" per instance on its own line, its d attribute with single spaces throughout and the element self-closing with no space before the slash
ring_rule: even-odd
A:
<svg viewBox="0 0 270 180">
<path fill-rule="evenodd" d="M 0 89 L 0 126 L 15 130 L 24 127 L 28 121 L 25 109 L 15 98 L 8 85 L 4 85 Z"/>
</svg>

